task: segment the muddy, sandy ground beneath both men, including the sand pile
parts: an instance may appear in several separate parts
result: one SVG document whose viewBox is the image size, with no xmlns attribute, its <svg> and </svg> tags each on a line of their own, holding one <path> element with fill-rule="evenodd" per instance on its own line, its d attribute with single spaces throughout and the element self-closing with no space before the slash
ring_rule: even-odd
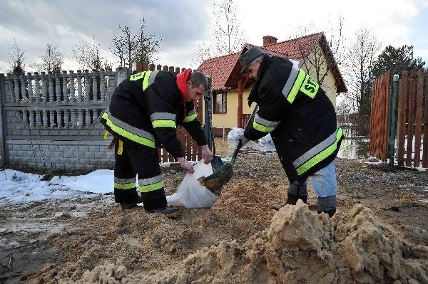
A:
<svg viewBox="0 0 428 284">
<path fill-rule="evenodd" d="M 428 283 L 428 172 L 336 163 L 332 219 L 310 184 L 308 206 L 270 210 L 288 182 L 276 154 L 256 151 L 213 208 L 175 220 L 112 195 L 2 206 L 0 283 Z M 163 171 L 173 194 L 185 172 Z"/>
</svg>

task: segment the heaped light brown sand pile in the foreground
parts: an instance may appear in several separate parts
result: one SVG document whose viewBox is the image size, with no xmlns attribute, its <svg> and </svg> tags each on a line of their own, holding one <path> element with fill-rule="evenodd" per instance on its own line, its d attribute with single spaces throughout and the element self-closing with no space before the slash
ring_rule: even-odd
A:
<svg viewBox="0 0 428 284">
<path fill-rule="evenodd" d="M 408 243 L 361 205 L 328 219 L 299 202 L 243 245 L 222 241 L 150 274 L 123 263 L 60 283 L 428 283 L 428 247 Z"/>
</svg>

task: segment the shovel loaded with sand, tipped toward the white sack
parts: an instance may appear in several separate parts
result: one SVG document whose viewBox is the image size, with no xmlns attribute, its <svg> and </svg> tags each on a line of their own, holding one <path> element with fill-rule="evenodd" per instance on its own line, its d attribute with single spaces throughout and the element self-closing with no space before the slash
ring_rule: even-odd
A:
<svg viewBox="0 0 428 284">
<path fill-rule="evenodd" d="M 255 112 L 258 110 L 258 105 L 255 105 L 253 113 L 250 116 L 250 119 L 247 122 L 247 125 L 245 126 L 245 130 L 248 130 L 248 128 L 251 125 L 252 120 L 254 119 Z M 245 132 L 244 130 L 244 132 Z M 211 165 L 213 167 L 213 174 L 210 174 L 208 177 L 200 177 L 198 181 L 200 184 L 205 186 L 207 189 L 213 192 L 213 194 L 220 195 L 221 188 L 223 185 L 225 185 L 227 182 L 232 179 L 233 176 L 233 164 L 235 164 L 236 157 L 238 156 L 238 152 L 240 148 L 242 147 L 242 141 L 238 140 L 238 145 L 235 148 L 235 151 L 233 151 L 232 159 L 230 159 L 230 162 L 223 164 L 220 157 L 214 157 L 213 161 L 211 162 Z"/>
</svg>

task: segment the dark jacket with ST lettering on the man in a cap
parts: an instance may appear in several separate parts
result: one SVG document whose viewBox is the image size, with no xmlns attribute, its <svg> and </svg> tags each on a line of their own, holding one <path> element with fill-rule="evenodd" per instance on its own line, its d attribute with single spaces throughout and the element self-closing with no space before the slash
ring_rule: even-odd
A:
<svg viewBox="0 0 428 284">
<path fill-rule="evenodd" d="M 249 100 L 259 110 L 245 137 L 270 133 L 287 177 L 305 179 L 332 162 L 340 148 L 335 107 L 295 62 L 264 56 L 258 73 Z"/>
</svg>

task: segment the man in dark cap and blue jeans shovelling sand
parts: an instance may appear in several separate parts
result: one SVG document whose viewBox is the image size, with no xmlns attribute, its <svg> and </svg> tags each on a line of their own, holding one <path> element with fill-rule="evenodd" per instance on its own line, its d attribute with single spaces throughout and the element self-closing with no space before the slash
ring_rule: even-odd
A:
<svg viewBox="0 0 428 284">
<path fill-rule="evenodd" d="M 332 216 L 337 207 L 334 159 L 344 137 L 332 102 L 295 61 L 270 57 L 253 47 L 239 62 L 242 73 L 255 79 L 248 102 L 256 102 L 259 110 L 238 139 L 244 145 L 270 133 L 290 179 L 286 203 L 296 204 L 298 199 L 306 203 L 310 177 L 318 213 Z"/>
</svg>

